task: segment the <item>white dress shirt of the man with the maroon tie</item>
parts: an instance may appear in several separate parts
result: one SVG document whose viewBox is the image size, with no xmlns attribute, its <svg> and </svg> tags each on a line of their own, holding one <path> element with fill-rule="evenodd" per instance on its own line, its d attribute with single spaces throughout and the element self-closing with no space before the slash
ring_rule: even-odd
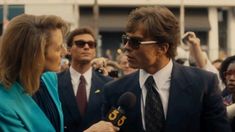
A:
<svg viewBox="0 0 235 132">
<path fill-rule="evenodd" d="M 77 90 L 78 90 L 78 85 L 80 83 L 80 76 L 81 73 L 77 72 L 72 66 L 69 68 L 70 74 L 71 74 L 71 82 L 73 85 L 73 92 L 74 95 L 76 96 Z M 92 68 L 90 68 L 88 71 L 86 71 L 83 74 L 85 80 L 86 80 L 86 96 L 87 96 L 87 101 L 89 100 L 89 95 L 90 95 L 90 89 L 91 89 L 91 76 L 92 76 Z"/>
</svg>

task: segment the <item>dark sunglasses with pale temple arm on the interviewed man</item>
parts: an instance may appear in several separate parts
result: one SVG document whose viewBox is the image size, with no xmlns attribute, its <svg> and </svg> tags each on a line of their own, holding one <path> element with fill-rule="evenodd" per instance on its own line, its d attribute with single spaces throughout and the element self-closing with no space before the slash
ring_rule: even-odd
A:
<svg viewBox="0 0 235 132">
<path fill-rule="evenodd" d="M 140 45 L 147 45 L 147 44 L 156 44 L 157 41 L 142 41 L 143 39 L 140 37 L 130 37 L 126 34 L 122 35 L 122 43 L 125 46 L 127 43 L 133 49 L 138 49 Z"/>
</svg>

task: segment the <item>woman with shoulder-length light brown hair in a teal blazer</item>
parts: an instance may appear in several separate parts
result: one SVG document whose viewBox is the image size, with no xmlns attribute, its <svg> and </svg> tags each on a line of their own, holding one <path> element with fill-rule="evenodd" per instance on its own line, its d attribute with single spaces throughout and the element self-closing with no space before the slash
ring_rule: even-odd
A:
<svg viewBox="0 0 235 132">
<path fill-rule="evenodd" d="M 63 132 L 57 76 L 45 71 L 60 70 L 67 30 L 52 15 L 23 14 L 8 24 L 0 48 L 1 132 Z"/>
</svg>

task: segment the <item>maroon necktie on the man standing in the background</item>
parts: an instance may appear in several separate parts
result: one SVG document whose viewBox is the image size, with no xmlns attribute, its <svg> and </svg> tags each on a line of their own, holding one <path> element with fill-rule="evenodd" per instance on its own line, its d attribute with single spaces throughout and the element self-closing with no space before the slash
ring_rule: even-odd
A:
<svg viewBox="0 0 235 132">
<path fill-rule="evenodd" d="M 87 106 L 87 97 L 86 97 L 86 80 L 83 75 L 81 75 L 80 77 L 80 83 L 78 85 L 76 98 L 80 114 L 84 116 Z"/>
</svg>

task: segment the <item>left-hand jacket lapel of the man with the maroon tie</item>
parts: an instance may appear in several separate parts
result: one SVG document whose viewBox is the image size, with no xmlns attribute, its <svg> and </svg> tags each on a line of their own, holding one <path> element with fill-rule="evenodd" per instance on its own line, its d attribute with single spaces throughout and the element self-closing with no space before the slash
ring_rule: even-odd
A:
<svg viewBox="0 0 235 132">
<path fill-rule="evenodd" d="M 62 84 L 61 95 L 63 96 L 65 107 L 67 108 L 68 112 L 70 112 L 74 120 L 81 119 L 81 115 L 78 110 L 76 98 L 73 91 L 71 75 L 69 70 L 66 70 L 66 73 L 61 80 L 64 81 L 64 83 L 61 83 Z"/>
</svg>

